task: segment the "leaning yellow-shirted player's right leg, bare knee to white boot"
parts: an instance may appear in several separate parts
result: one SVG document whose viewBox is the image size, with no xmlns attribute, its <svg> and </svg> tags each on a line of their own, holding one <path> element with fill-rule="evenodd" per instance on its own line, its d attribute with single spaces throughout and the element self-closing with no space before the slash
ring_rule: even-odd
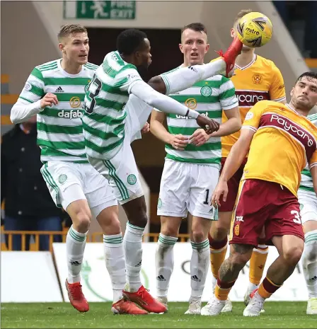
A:
<svg viewBox="0 0 317 329">
<path fill-rule="evenodd" d="M 301 259 L 304 250 L 304 241 L 298 236 L 274 236 L 272 243 L 279 252 L 279 257 L 267 270 L 267 275 L 253 294 L 243 316 L 259 316 L 265 299 L 274 294 L 284 281 L 289 278 Z"/>
</svg>

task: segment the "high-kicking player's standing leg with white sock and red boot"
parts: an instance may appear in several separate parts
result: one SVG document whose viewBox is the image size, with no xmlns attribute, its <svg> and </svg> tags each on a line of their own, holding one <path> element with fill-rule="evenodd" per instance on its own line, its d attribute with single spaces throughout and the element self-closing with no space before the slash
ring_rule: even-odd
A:
<svg viewBox="0 0 317 329">
<path fill-rule="evenodd" d="M 127 270 L 127 284 L 123 294 L 129 301 L 151 313 L 163 313 L 166 306 L 156 301 L 141 283 L 142 236 L 147 223 L 144 196 L 122 204 L 128 222 L 123 240 Z"/>
</svg>

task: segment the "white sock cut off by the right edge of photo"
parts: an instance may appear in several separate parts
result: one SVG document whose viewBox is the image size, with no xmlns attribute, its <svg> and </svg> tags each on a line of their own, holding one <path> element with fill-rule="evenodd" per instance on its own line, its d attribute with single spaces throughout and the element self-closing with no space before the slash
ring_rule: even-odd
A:
<svg viewBox="0 0 317 329">
<path fill-rule="evenodd" d="M 317 230 L 305 234 L 305 247 L 301 257 L 309 298 L 317 298 Z"/>
</svg>

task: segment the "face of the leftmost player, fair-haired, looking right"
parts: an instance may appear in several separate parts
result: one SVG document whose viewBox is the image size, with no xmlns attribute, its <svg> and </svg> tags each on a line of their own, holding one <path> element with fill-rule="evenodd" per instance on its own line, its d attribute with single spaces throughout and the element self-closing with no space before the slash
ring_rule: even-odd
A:
<svg viewBox="0 0 317 329">
<path fill-rule="evenodd" d="M 59 44 L 59 49 L 62 50 L 63 57 L 68 62 L 76 64 L 86 64 L 88 62 L 89 39 L 87 33 L 74 33 L 64 37 Z"/>
</svg>

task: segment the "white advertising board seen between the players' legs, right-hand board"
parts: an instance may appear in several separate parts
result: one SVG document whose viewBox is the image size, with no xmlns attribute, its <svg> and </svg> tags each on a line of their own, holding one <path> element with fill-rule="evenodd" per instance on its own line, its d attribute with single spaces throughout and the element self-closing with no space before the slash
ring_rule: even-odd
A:
<svg viewBox="0 0 317 329">
<path fill-rule="evenodd" d="M 269 255 L 265 265 L 267 267 L 277 258 L 277 250 L 269 247 Z M 54 243 L 54 258 L 57 265 L 59 281 L 64 283 L 67 277 L 66 244 Z M 151 294 L 156 294 L 156 272 L 155 272 L 155 250 L 156 243 L 143 243 L 142 260 L 142 283 L 150 290 Z M 174 246 L 174 271 L 168 290 L 168 301 L 188 301 L 190 298 L 190 257 L 192 247 L 190 243 L 176 243 Z M 227 251 L 226 257 L 228 257 Z M 103 255 L 103 243 L 87 243 L 83 256 L 81 284 L 83 293 L 88 301 L 111 301 L 113 291 L 110 277 L 105 268 Z M 248 284 L 248 264 L 241 271 L 236 284 L 229 294 L 232 301 L 243 301 Z M 62 284 L 62 292 L 65 301 L 68 300 L 67 291 Z M 204 288 L 202 301 L 207 301 L 212 295 L 212 273 L 209 270 L 207 282 Z M 270 298 L 270 301 L 306 301 L 307 290 L 304 275 L 300 265 L 284 285 Z"/>
</svg>

